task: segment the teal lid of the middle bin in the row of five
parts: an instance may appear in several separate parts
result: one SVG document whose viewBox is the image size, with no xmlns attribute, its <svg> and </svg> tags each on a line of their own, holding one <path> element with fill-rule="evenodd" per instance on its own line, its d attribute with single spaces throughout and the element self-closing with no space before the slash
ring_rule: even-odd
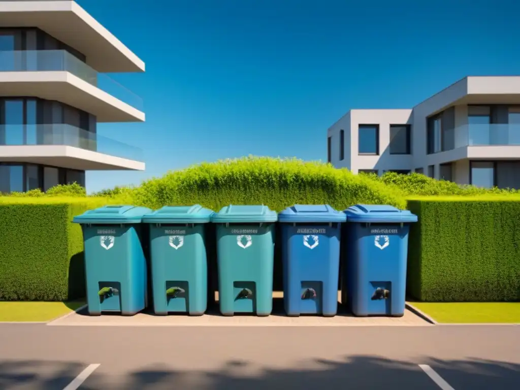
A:
<svg viewBox="0 0 520 390">
<path fill-rule="evenodd" d="M 278 215 L 269 207 L 259 204 L 254 205 L 232 205 L 224 206 L 218 213 L 211 217 L 211 222 L 215 223 L 262 223 L 276 222 Z"/>
</svg>

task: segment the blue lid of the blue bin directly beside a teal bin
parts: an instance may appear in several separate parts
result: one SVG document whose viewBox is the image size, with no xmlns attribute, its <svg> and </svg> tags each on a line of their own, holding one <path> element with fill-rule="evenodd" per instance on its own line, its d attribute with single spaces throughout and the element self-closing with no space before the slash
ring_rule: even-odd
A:
<svg viewBox="0 0 520 390">
<path fill-rule="evenodd" d="M 347 216 L 328 204 L 295 204 L 278 214 L 279 222 L 345 222 Z"/>
</svg>

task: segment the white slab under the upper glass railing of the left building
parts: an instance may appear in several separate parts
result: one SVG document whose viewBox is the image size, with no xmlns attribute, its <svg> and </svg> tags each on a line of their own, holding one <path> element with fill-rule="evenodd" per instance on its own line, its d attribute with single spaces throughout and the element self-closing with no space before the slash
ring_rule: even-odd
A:
<svg viewBox="0 0 520 390">
<path fill-rule="evenodd" d="M 98 122 L 145 121 L 144 112 L 66 71 L 0 72 L 0 96 L 58 100 L 96 115 Z"/>
</svg>

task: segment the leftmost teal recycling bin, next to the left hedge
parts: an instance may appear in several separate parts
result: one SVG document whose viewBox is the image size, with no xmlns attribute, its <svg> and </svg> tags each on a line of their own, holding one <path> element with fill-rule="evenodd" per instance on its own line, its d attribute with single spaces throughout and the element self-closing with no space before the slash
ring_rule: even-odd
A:
<svg viewBox="0 0 520 390">
<path fill-rule="evenodd" d="M 85 245 L 87 307 L 131 316 L 148 305 L 148 240 L 141 217 L 146 207 L 104 206 L 73 218 Z"/>
</svg>

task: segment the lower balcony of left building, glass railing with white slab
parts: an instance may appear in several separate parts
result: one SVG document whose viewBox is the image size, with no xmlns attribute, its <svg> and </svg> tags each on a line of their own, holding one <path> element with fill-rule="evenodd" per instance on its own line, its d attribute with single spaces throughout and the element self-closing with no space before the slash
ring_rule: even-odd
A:
<svg viewBox="0 0 520 390">
<path fill-rule="evenodd" d="M 68 124 L 0 126 L 0 160 L 80 170 L 145 167 L 141 149 Z"/>
</svg>

